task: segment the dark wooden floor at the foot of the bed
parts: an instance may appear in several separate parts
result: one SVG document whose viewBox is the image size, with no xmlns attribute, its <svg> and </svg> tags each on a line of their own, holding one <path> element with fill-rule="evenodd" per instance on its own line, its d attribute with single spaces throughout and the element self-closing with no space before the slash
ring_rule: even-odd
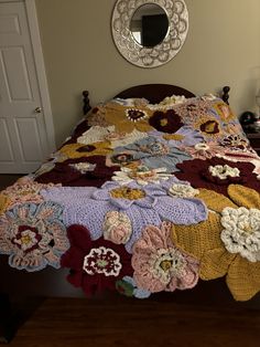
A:
<svg viewBox="0 0 260 347">
<path fill-rule="evenodd" d="M 10 347 L 257 347 L 260 311 L 172 302 L 48 298 Z"/>
</svg>

